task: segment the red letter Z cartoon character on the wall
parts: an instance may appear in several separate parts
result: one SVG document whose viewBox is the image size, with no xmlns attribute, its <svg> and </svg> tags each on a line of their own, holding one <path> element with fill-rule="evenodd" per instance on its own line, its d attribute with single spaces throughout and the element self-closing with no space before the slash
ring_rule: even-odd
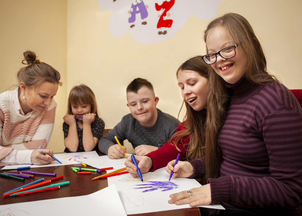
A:
<svg viewBox="0 0 302 216">
<path fill-rule="evenodd" d="M 162 2 L 162 1 L 158 1 Z M 162 14 L 158 15 L 159 20 L 157 23 L 157 28 L 159 29 L 158 34 L 167 34 L 167 28 L 170 28 L 172 26 L 172 19 L 166 19 L 168 18 L 171 14 L 169 13 L 170 8 L 174 5 L 175 0 L 166 0 L 162 2 L 161 5 L 158 3 L 155 3 L 155 9 L 157 11 L 160 11 Z M 165 18 L 165 19 L 164 19 Z"/>
</svg>

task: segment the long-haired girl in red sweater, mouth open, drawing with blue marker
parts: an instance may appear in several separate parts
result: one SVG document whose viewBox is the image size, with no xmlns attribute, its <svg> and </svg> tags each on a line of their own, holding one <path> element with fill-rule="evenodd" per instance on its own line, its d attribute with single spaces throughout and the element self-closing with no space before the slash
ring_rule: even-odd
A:
<svg viewBox="0 0 302 216">
<path fill-rule="evenodd" d="M 208 70 L 201 56 L 185 61 L 177 70 L 178 86 L 184 98 L 186 114 L 171 139 L 156 151 L 145 156 L 135 156 L 142 173 L 154 171 L 167 165 L 180 153 L 180 159 L 201 158 L 205 154 L 205 131 L 208 95 Z M 127 171 L 137 177 L 136 166 L 128 158 L 125 161 Z"/>
</svg>

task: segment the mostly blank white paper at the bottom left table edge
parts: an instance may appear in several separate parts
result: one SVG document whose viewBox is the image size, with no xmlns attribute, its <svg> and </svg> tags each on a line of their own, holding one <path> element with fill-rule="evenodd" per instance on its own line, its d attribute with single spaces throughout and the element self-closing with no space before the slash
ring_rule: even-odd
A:
<svg viewBox="0 0 302 216">
<path fill-rule="evenodd" d="M 63 187 L 62 187 L 63 189 Z M 115 185 L 85 196 L 0 205 L 1 215 L 125 215 Z"/>
</svg>

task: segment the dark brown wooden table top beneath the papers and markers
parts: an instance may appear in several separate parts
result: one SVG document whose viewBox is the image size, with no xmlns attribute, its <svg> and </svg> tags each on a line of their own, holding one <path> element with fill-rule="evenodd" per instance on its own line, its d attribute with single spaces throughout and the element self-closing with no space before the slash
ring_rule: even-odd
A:
<svg viewBox="0 0 302 216">
<path fill-rule="evenodd" d="M 97 151 L 98 152 L 98 151 Z M 101 152 L 98 152 L 99 155 L 103 155 Z M 39 167 L 39 168 L 31 168 L 31 172 L 49 172 L 56 173 L 56 176 L 63 175 L 63 179 L 55 180 L 52 184 L 56 184 L 59 182 L 69 181 L 69 185 L 62 186 L 59 190 L 54 190 L 51 192 L 41 192 L 36 194 L 24 195 L 24 196 L 14 196 L 14 197 L 6 197 L 1 198 L 0 205 L 7 205 L 12 203 L 19 202 L 28 202 L 28 201 L 37 201 L 44 199 L 54 199 L 61 197 L 72 197 L 72 196 L 82 196 L 88 195 L 93 192 L 99 191 L 103 188 L 108 187 L 107 178 L 101 178 L 97 180 L 91 180 L 93 177 L 100 175 L 98 172 L 92 172 L 91 175 L 77 175 L 75 172 L 70 169 L 70 167 L 83 167 L 81 164 L 73 164 L 73 165 L 62 165 L 62 166 L 49 166 L 49 167 Z M 93 168 L 87 165 L 86 168 Z M 3 170 L 1 170 L 3 171 Z M 7 170 L 8 171 L 8 170 Z M 10 170 L 17 171 L 17 170 Z M 22 170 L 21 170 L 22 171 Z M 21 174 L 21 171 L 20 174 Z M 108 170 L 110 171 L 110 170 Z M 106 172 L 102 172 L 104 174 Z M 25 178 L 25 181 L 19 181 L 12 178 L 0 177 L 0 185 L 1 185 L 1 194 L 6 191 L 10 191 L 14 188 L 20 187 L 21 185 L 26 185 L 34 180 L 38 180 L 40 178 L 44 178 L 44 180 L 48 180 L 53 178 L 53 176 L 46 175 L 35 175 L 34 178 Z M 42 186 L 41 186 L 42 187 Z M 132 214 L 137 216 L 165 216 L 165 215 L 181 215 L 181 216 L 200 216 L 199 208 L 184 208 L 177 209 L 171 211 L 160 211 L 160 212 L 150 212 L 144 214 Z"/>
</svg>

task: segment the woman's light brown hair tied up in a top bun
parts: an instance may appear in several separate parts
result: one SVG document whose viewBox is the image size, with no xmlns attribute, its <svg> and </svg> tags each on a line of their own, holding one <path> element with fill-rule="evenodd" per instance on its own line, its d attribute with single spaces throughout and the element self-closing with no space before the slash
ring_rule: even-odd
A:
<svg viewBox="0 0 302 216">
<path fill-rule="evenodd" d="M 60 73 L 56 69 L 45 62 L 41 62 L 33 51 L 27 50 L 23 55 L 22 64 L 27 64 L 27 66 L 22 67 L 17 73 L 19 85 L 24 82 L 27 87 L 36 88 L 43 81 L 47 81 L 62 86 Z"/>
</svg>

